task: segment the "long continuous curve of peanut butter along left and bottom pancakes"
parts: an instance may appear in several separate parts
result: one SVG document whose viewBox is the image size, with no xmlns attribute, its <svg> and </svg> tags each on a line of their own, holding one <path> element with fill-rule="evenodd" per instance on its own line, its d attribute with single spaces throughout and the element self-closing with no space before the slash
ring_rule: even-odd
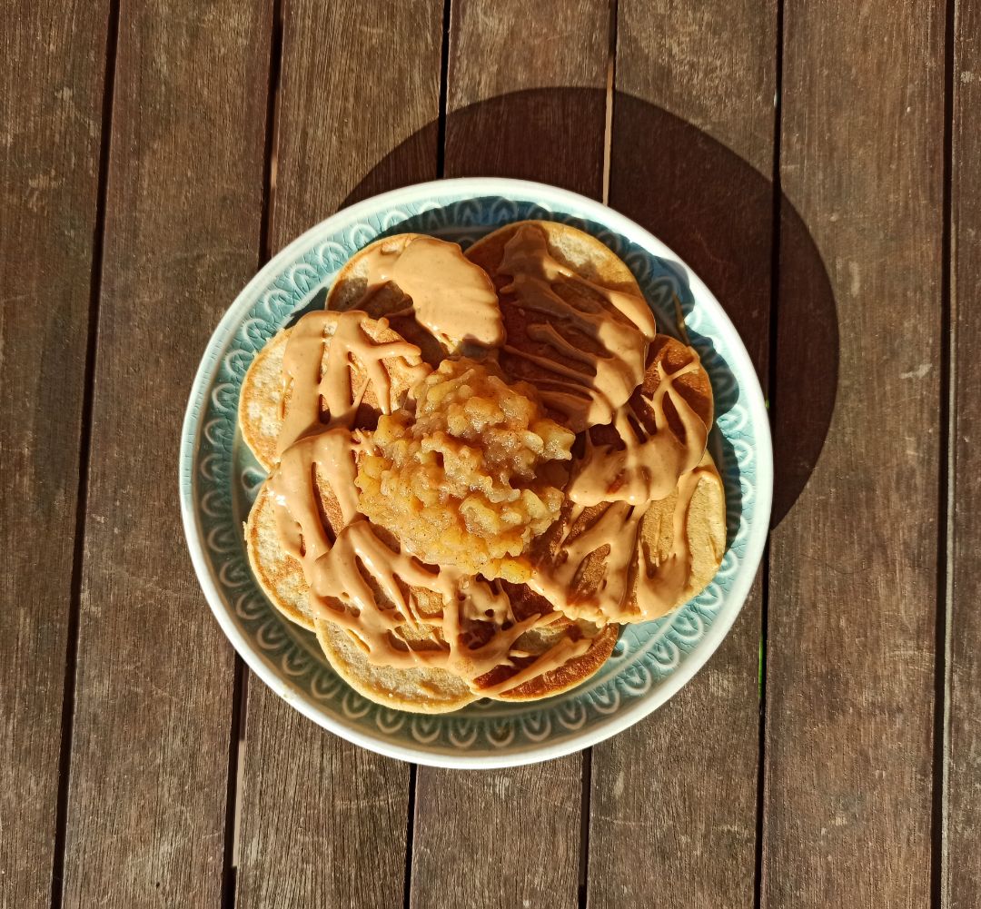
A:
<svg viewBox="0 0 981 909">
<path fill-rule="evenodd" d="M 563 638 L 511 678 L 479 686 L 481 676 L 515 667 L 514 659 L 529 656 L 514 647 L 522 634 L 560 615 L 517 621 L 498 584 L 423 565 L 387 545 L 358 512 L 354 478 L 360 440 L 351 431 L 358 404 L 370 381 L 380 406 L 390 412 L 383 359 L 403 357 L 408 363 L 419 356 L 418 348 L 406 342 L 373 341 L 362 326 L 366 318 L 358 311 L 311 313 L 293 328 L 284 355 L 291 394 L 278 440 L 280 462 L 269 483 L 280 541 L 302 566 L 315 614 L 350 632 L 375 665 L 443 669 L 481 694 L 507 690 L 582 655 L 590 640 Z M 357 392 L 351 387 L 352 357 L 367 373 Z M 321 514 L 318 475 L 330 482 L 340 512 L 341 529 L 333 541 Z M 438 615 L 421 612 L 414 588 L 438 595 Z M 480 626 L 486 631 L 488 625 L 490 638 L 472 646 L 475 635 L 481 636 Z"/>
</svg>

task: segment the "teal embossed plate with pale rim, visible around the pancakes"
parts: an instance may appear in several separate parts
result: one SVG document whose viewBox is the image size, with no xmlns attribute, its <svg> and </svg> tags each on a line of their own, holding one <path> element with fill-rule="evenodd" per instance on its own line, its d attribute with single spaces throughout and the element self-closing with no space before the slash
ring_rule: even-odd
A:
<svg viewBox="0 0 981 909">
<path fill-rule="evenodd" d="M 659 622 L 627 627 L 580 687 L 532 704 L 485 700 L 440 716 L 401 713 L 341 682 L 312 633 L 284 620 L 252 579 L 242 522 L 264 473 L 236 426 L 256 352 L 323 291 L 354 252 L 385 233 L 473 242 L 495 227 L 549 219 L 593 233 L 620 255 L 660 330 L 677 302 L 715 393 L 710 445 L 726 487 L 728 547 L 714 581 Z M 749 592 L 769 523 L 769 425 L 746 348 L 705 285 L 642 227 L 591 199 L 513 179 L 448 179 L 368 199 L 308 230 L 238 295 L 191 388 L 181 437 L 181 513 L 194 569 L 222 629 L 250 669 L 314 722 L 391 757 L 445 767 L 504 767 L 568 754 L 626 729 L 695 675 Z"/>
</svg>

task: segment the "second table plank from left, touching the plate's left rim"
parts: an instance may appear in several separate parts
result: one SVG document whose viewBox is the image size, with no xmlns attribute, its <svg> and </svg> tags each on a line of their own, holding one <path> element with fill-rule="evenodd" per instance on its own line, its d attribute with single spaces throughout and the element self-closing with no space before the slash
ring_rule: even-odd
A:
<svg viewBox="0 0 981 909">
<path fill-rule="evenodd" d="M 66 906 L 215 906 L 232 648 L 183 545 L 188 383 L 255 270 L 270 13 L 124 3 L 92 411 Z"/>
</svg>

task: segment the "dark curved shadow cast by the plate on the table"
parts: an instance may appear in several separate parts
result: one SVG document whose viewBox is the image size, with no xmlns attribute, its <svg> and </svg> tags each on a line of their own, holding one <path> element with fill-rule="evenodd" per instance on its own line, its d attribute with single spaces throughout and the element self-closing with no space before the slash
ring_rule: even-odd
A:
<svg viewBox="0 0 981 909">
<path fill-rule="evenodd" d="M 575 184 L 567 180 L 566 188 L 598 196 L 601 141 L 596 130 L 583 124 L 597 122 L 604 106 L 605 93 L 598 89 L 542 88 L 453 111 L 445 124 L 446 175 L 523 177 L 559 185 L 555 173 L 574 175 Z M 692 268 L 739 330 L 764 389 L 774 377 L 775 527 L 810 477 L 834 411 L 839 331 L 827 271 L 810 232 L 782 196 L 779 294 L 774 297 L 779 306 L 771 322 L 776 207 L 770 174 L 639 98 L 617 92 L 613 117 L 610 205 L 667 243 Z M 512 164 L 505 170 L 500 162 L 513 163 L 516 144 L 535 153 L 528 155 L 527 168 L 516 171 Z M 463 158 L 457 146 L 472 151 Z M 343 205 L 402 185 L 407 174 L 425 173 L 420 163 L 436 161 L 438 147 L 434 121 L 393 149 Z M 510 154 L 502 156 L 502 148 Z M 553 164 L 552 170 L 549 162 L 556 159 L 562 159 L 562 166 Z M 570 165 L 572 160 L 577 164 Z M 776 328 L 772 345 L 771 325 Z"/>
</svg>

